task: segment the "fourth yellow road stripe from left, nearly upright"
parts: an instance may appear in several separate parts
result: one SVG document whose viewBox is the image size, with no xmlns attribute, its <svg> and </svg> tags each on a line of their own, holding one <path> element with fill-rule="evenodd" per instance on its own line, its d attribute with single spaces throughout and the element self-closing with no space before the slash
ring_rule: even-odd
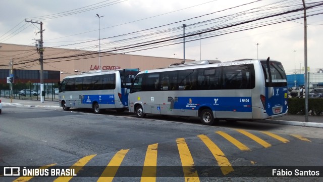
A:
<svg viewBox="0 0 323 182">
<path fill-rule="evenodd" d="M 156 181 L 157 170 L 157 147 L 158 144 L 149 145 L 146 152 L 145 162 L 141 175 L 141 181 Z"/>
</svg>

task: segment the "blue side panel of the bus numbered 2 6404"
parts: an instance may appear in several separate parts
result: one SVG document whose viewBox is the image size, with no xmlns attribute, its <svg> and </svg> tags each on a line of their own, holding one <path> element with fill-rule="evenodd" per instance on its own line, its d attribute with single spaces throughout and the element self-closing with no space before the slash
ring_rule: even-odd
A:
<svg viewBox="0 0 323 182">
<path fill-rule="evenodd" d="M 198 110 L 208 106 L 213 111 L 252 112 L 251 97 L 169 97 L 171 100 L 174 109 Z"/>
</svg>

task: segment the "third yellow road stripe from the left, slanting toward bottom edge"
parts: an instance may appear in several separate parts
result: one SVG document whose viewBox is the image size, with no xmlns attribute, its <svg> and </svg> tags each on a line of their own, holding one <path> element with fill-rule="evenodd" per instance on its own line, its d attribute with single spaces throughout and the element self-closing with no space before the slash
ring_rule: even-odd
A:
<svg viewBox="0 0 323 182">
<path fill-rule="evenodd" d="M 129 149 L 118 151 L 105 167 L 97 181 L 112 181 Z"/>
</svg>

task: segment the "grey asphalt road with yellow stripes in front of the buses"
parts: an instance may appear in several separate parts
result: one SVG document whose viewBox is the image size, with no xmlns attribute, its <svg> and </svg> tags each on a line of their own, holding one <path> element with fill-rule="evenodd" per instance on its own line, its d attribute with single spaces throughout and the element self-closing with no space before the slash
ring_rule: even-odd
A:
<svg viewBox="0 0 323 182">
<path fill-rule="evenodd" d="M 0 170 L 51 164 L 80 169 L 71 178 L 30 176 L 30 181 L 322 179 L 270 177 L 273 169 L 294 168 L 323 175 L 322 128 L 240 121 L 205 126 L 196 118 L 6 107 L 0 117 Z M 107 165 L 113 166 L 110 173 L 104 171 Z M 27 178 L 1 176 L 2 181 L 15 179 Z"/>
</svg>

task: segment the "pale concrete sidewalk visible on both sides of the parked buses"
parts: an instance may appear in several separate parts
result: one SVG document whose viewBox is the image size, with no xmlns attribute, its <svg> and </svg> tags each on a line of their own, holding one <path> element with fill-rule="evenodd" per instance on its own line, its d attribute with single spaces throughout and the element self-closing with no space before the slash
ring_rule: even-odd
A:
<svg viewBox="0 0 323 182">
<path fill-rule="evenodd" d="M 23 107 L 43 107 L 43 108 L 59 108 L 58 101 L 44 101 L 40 103 L 40 100 L 20 100 L 20 99 L 9 99 L 0 98 L 2 101 L 3 109 L 8 105 L 12 106 L 23 106 Z M 258 120 L 257 122 L 262 123 L 273 123 L 273 124 L 285 124 L 285 125 L 296 125 L 296 126 L 307 126 L 307 127 L 319 127 L 323 128 L 323 116 L 308 116 L 308 122 L 305 122 L 304 115 L 288 114 L 280 118 Z"/>
</svg>

